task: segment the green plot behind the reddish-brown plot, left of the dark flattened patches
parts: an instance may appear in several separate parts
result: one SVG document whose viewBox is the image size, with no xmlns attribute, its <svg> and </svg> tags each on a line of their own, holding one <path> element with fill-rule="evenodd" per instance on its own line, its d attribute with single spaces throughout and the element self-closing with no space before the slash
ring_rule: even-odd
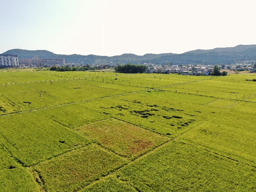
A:
<svg viewBox="0 0 256 192">
<path fill-rule="evenodd" d="M 55 122 L 71 129 L 109 118 L 108 114 L 87 109 L 79 104 L 50 107 L 48 109 L 40 110 L 38 113 L 45 115 Z"/>
</svg>

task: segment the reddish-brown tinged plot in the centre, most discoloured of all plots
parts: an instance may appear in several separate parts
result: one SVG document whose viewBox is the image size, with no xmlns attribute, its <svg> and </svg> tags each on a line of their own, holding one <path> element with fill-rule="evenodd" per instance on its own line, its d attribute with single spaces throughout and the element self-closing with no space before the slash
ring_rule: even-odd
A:
<svg viewBox="0 0 256 192">
<path fill-rule="evenodd" d="M 78 132 L 131 160 L 170 140 L 114 118 L 79 127 Z"/>
</svg>

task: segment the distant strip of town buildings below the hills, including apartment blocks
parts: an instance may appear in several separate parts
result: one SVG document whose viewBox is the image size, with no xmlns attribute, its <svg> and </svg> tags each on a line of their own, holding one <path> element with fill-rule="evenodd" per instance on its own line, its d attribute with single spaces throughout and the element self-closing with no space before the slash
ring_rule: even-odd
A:
<svg viewBox="0 0 256 192">
<path fill-rule="evenodd" d="M 87 70 L 101 70 L 106 68 L 115 68 L 119 63 L 95 63 L 95 64 L 83 64 L 83 63 L 65 63 L 64 58 L 39 58 L 37 55 L 33 58 L 19 59 L 18 55 L 13 54 L 0 54 L 0 68 L 38 68 L 45 67 L 87 67 Z M 137 63 L 135 65 L 145 65 L 145 73 L 161 73 L 161 74 L 181 74 L 181 75 L 204 75 L 208 76 L 213 72 L 213 65 L 202 64 L 190 64 L 190 65 L 172 65 L 172 62 L 167 64 L 156 65 L 154 63 Z M 248 71 L 256 72 L 256 61 L 242 61 L 241 63 L 234 63 L 225 65 L 221 63 L 218 65 L 220 69 L 232 70 L 232 71 Z"/>
</svg>

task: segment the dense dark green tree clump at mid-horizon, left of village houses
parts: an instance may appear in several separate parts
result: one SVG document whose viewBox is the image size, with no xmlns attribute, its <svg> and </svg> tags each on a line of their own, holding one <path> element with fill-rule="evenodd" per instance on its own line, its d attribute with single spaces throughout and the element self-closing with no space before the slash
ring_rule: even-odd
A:
<svg viewBox="0 0 256 192">
<path fill-rule="evenodd" d="M 115 67 L 116 72 L 121 73 L 144 73 L 147 66 L 145 65 L 133 65 L 132 63 L 127 63 L 126 65 L 118 65 Z"/>
</svg>

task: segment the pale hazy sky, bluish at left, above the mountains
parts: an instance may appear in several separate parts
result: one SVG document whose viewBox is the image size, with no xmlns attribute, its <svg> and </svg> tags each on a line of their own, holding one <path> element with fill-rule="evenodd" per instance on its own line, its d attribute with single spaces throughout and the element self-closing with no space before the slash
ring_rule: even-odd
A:
<svg viewBox="0 0 256 192">
<path fill-rule="evenodd" d="M 0 53 L 184 53 L 256 44 L 254 0 L 0 0 Z"/>
</svg>

